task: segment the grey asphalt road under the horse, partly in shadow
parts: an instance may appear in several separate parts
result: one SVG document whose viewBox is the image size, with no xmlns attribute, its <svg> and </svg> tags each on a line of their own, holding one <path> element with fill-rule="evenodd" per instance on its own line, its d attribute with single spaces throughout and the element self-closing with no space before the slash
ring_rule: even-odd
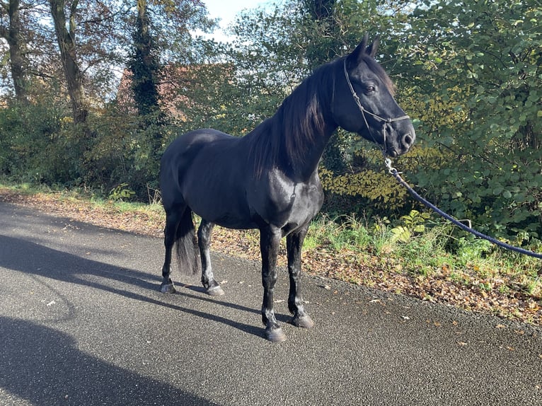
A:
<svg viewBox="0 0 542 406">
<path fill-rule="evenodd" d="M 162 241 L 0 204 L 0 406 L 542 405 L 542 330 L 305 277 L 263 338 L 258 262 L 161 294 Z M 282 299 L 282 300 L 281 300 Z"/>
</svg>

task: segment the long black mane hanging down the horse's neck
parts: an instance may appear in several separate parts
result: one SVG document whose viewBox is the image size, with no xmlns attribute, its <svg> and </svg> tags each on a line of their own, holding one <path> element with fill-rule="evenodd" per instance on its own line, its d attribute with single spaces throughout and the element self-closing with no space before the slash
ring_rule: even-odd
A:
<svg viewBox="0 0 542 406">
<path fill-rule="evenodd" d="M 309 144 L 324 131 L 334 66 L 330 62 L 316 69 L 284 99 L 275 115 L 245 136 L 256 176 L 275 166 L 289 170 L 303 166 Z"/>
</svg>

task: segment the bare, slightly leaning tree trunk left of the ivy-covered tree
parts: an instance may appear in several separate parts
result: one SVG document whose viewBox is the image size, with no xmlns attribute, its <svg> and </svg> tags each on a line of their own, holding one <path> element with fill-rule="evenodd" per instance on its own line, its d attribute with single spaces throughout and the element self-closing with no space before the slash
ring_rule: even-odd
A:
<svg viewBox="0 0 542 406">
<path fill-rule="evenodd" d="M 64 6 L 66 0 L 50 0 L 51 14 L 54 21 L 54 30 L 57 33 L 57 41 L 64 66 L 64 74 L 68 85 L 71 109 L 76 124 L 85 123 L 88 116 L 85 91 L 83 88 L 83 73 L 77 62 L 77 47 L 75 40 L 75 15 L 79 1 L 73 0 L 70 5 L 69 29 L 66 24 Z"/>
</svg>

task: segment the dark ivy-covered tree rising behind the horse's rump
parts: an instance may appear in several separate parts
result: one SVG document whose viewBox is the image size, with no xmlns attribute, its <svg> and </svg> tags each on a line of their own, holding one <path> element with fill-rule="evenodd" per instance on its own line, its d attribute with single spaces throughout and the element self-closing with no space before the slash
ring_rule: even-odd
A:
<svg viewBox="0 0 542 406">
<path fill-rule="evenodd" d="M 163 103 L 164 92 L 172 86 L 168 74 L 178 74 L 175 64 L 192 59 L 192 36 L 190 30 L 208 30 L 212 22 L 199 1 L 189 0 L 137 0 L 132 51 L 128 58 L 128 70 L 135 107 L 139 113 L 139 129 L 136 134 L 139 162 L 136 167 L 144 173 L 142 178 L 153 184 L 158 178 L 158 163 L 168 141 L 168 115 Z M 165 40 L 167 39 L 167 41 Z M 171 50 L 180 44 L 187 46 L 182 55 L 175 56 Z M 176 78 L 175 80 L 178 80 Z M 146 162 L 142 162 L 145 160 Z"/>
</svg>

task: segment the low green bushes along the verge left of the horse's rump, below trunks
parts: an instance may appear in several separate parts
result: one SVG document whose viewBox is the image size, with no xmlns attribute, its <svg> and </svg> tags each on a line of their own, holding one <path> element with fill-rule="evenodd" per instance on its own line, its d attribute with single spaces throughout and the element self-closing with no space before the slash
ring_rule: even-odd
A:
<svg viewBox="0 0 542 406">
<path fill-rule="evenodd" d="M 110 105 L 91 112 L 86 131 L 93 137 L 86 137 L 66 105 L 49 98 L 38 104 L 12 103 L 0 110 L 0 173 L 22 182 L 86 185 L 104 193 L 127 183 L 146 199 L 147 187 L 157 187 L 158 179 L 149 135 L 158 126 L 149 121 L 149 116 L 127 116 Z M 171 138 L 170 127 L 159 128 L 164 139 Z"/>
</svg>

